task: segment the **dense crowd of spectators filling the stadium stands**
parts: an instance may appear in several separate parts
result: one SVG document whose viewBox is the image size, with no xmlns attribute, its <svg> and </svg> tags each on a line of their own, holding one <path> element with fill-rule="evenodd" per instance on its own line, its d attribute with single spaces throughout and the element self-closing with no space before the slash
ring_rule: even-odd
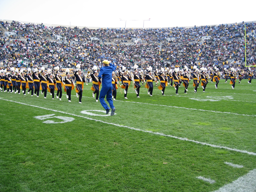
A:
<svg viewBox="0 0 256 192">
<path fill-rule="evenodd" d="M 101 67 L 102 60 L 117 66 L 140 68 L 191 67 L 197 65 L 222 68 L 244 68 L 244 24 L 246 63 L 255 65 L 255 23 L 218 26 L 116 29 L 69 28 L 42 24 L 1 22 L 0 62 L 6 67 L 47 66 L 88 70 Z M 16 35 L 5 36 L 5 31 Z M 202 40 L 202 37 L 211 38 Z M 90 41 L 96 37 L 100 41 Z M 131 43 L 132 38 L 142 42 Z M 168 38 L 172 40 L 168 41 Z M 245 69 L 245 68 L 244 68 Z"/>
</svg>

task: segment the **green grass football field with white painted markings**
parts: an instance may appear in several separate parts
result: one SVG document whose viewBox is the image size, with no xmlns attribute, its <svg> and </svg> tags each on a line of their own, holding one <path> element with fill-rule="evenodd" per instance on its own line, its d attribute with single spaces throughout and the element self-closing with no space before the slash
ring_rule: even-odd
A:
<svg viewBox="0 0 256 192">
<path fill-rule="evenodd" d="M 192 84 L 165 96 L 154 86 L 153 97 L 141 86 L 140 98 L 130 87 L 128 100 L 117 90 L 114 116 L 92 83 L 82 104 L 75 90 L 72 102 L 0 92 L 0 191 L 210 192 L 255 171 L 254 79 Z"/>
</svg>

